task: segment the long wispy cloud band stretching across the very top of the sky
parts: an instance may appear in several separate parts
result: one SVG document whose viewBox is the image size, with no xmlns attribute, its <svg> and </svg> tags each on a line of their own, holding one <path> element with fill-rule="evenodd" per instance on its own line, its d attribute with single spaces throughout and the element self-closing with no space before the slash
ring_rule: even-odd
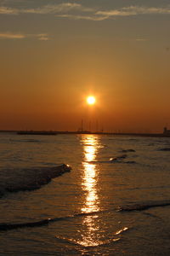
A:
<svg viewBox="0 0 170 256">
<path fill-rule="evenodd" d="M 73 20 L 108 20 L 118 16 L 133 15 L 169 15 L 170 5 L 167 7 L 146 7 L 146 6 L 127 6 L 122 9 L 98 9 L 88 8 L 81 3 L 58 3 L 42 5 L 39 8 L 16 9 L 7 6 L 0 6 L 0 14 L 19 15 L 56 15 L 61 18 Z"/>
</svg>

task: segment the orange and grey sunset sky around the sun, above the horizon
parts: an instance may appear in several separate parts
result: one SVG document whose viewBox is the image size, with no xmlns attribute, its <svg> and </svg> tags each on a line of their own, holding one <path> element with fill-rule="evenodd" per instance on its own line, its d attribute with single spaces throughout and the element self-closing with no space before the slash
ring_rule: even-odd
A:
<svg viewBox="0 0 170 256">
<path fill-rule="evenodd" d="M 0 130 L 170 128 L 169 31 L 169 0 L 0 0 Z"/>
</svg>

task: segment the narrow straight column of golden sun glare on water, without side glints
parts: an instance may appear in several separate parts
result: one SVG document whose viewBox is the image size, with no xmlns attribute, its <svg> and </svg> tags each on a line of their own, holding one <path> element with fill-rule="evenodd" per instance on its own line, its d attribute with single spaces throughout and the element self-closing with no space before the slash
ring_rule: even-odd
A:
<svg viewBox="0 0 170 256">
<path fill-rule="evenodd" d="M 83 147 L 83 175 L 82 189 L 85 193 L 85 201 L 82 212 L 96 212 L 83 219 L 84 232 L 79 243 L 84 247 L 95 247 L 102 244 L 99 241 L 99 224 L 97 221 L 99 208 L 98 178 L 99 170 L 95 165 L 96 156 L 100 148 L 99 137 L 94 135 L 82 136 Z"/>
</svg>

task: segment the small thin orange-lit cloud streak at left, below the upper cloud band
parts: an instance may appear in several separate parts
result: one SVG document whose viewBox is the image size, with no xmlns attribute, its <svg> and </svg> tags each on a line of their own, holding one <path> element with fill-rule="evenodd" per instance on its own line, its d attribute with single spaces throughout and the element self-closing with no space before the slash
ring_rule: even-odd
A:
<svg viewBox="0 0 170 256">
<path fill-rule="evenodd" d="M 24 38 L 37 38 L 38 40 L 49 40 L 48 34 L 22 34 L 12 32 L 0 32 L 0 39 L 24 39 Z"/>
</svg>

